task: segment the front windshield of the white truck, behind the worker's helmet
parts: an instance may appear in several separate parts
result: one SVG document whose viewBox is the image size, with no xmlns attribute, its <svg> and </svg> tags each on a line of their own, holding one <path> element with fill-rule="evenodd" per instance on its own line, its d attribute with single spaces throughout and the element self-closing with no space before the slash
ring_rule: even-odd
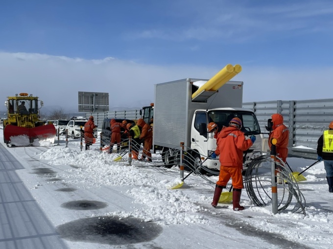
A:
<svg viewBox="0 0 333 249">
<path fill-rule="evenodd" d="M 218 131 L 222 129 L 223 126 L 229 126 L 229 122 L 234 117 L 240 118 L 242 121 L 241 131 L 246 135 L 259 135 L 260 127 L 257 117 L 254 113 L 246 111 L 211 111 L 208 113 L 208 122 L 214 122 L 218 126 Z"/>
</svg>

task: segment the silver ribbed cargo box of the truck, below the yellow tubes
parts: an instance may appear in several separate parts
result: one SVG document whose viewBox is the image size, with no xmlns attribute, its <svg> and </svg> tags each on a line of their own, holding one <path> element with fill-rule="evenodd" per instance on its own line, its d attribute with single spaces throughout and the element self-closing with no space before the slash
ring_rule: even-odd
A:
<svg viewBox="0 0 333 249">
<path fill-rule="evenodd" d="M 185 142 L 185 146 L 190 147 L 190 126 L 195 110 L 242 107 L 243 82 L 229 81 L 218 91 L 204 92 L 193 101 L 192 93 L 198 89 L 193 83 L 197 81 L 208 80 L 188 78 L 155 85 L 154 145 L 174 148 Z"/>
</svg>

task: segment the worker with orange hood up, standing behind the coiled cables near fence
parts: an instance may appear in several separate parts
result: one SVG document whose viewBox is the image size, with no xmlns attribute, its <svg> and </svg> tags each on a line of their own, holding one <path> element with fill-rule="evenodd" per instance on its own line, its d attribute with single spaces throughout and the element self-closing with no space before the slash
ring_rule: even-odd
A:
<svg viewBox="0 0 333 249">
<path fill-rule="evenodd" d="M 279 113 L 272 115 L 272 122 L 273 131 L 269 134 L 268 138 L 269 149 L 272 147 L 271 139 L 276 138 L 276 156 L 286 162 L 288 156 L 289 130 L 283 124 L 283 116 Z"/>
</svg>

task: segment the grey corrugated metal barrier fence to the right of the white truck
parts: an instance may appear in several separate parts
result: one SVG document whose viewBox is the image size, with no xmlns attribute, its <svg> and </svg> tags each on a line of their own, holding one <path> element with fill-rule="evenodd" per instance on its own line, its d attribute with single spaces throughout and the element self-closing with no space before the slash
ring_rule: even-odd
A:
<svg viewBox="0 0 333 249">
<path fill-rule="evenodd" d="M 319 136 L 333 120 L 333 99 L 248 102 L 243 108 L 254 111 L 262 132 L 272 114 L 282 114 L 290 132 L 290 154 L 306 158 L 316 158 L 315 150 L 304 147 L 316 149 Z"/>
</svg>

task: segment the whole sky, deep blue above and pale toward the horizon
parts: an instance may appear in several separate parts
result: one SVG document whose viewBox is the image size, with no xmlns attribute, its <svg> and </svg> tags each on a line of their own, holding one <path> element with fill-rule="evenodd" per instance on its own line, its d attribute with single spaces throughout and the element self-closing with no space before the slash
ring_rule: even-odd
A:
<svg viewBox="0 0 333 249">
<path fill-rule="evenodd" d="M 191 73 L 211 78 L 230 63 L 243 68 L 236 80 L 244 81 L 244 101 L 332 97 L 313 95 L 313 91 L 293 96 L 279 90 L 275 98 L 264 93 L 256 98 L 249 87 L 285 82 L 283 87 L 294 84 L 297 89 L 297 84 L 310 86 L 318 80 L 323 82 L 320 88 L 332 90 L 333 84 L 327 82 L 333 74 L 333 2 L 329 0 L 2 0 L 0 23 L 0 72 L 5 74 L 0 80 L 15 81 L 16 86 L 20 86 L 17 74 L 35 84 L 54 80 L 54 75 L 50 79 L 36 76 L 43 73 L 38 71 L 42 65 L 44 71 L 68 75 L 67 81 L 59 78 L 55 84 L 87 86 L 75 90 L 75 97 L 77 91 L 95 91 L 89 85 L 96 82 L 79 75 L 86 73 L 89 78 L 89 70 L 95 76 L 123 70 L 126 82 L 121 81 L 121 73 L 117 82 L 111 76 L 96 76 L 95 81 L 131 88 L 129 76 L 134 73 L 129 70 L 135 65 L 138 75 L 151 74 L 138 82 L 148 84 L 143 87 L 151 88 L 148 92 L 153 94 L 153 84 L 192 77 Z M 27 63 L 18 62 L 22 60 Z M 53 64 L 47 67 L 45 60 Z M 59 60 L 67 65 L 59 66 Z M 305 79 L 309 82 L 304 83 Z M 142 101 L 153 99 L 140 94 Z"/>
</svg>

